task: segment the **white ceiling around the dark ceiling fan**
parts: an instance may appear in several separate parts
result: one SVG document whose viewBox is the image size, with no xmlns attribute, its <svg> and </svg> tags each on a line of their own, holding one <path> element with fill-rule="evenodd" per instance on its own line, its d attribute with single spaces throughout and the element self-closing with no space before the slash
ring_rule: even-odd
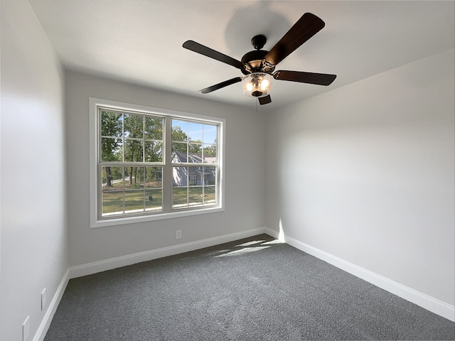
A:
<svg viewBox="0 0 455 341">
<path fill-rule="evenodd" d="M 326 27 L 276 70 L 333 73 L 328 87 L 274 81 L 272 104 L 331 91 L 454 48 L 454 1 L 28 0 L 58 56 L 81 70 L 139 85 L 255 107 L 241 83 L 198 90 L 242 76 L 235 67 L 182 48 L 186 40 L 240 60 L 250 40 L 265 50 L 305 12 Z M 266 108 L 267 107 L 267 108 Z"/>
</svg>

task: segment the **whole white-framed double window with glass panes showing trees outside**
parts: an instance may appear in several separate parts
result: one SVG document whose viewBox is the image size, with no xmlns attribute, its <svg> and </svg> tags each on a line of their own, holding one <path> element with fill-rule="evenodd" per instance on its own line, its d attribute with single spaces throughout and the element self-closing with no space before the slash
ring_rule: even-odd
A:
<svg viewBox="0 0 455 341">
<path fill-rule="evenodd" d="M 224 120 L 90 99 L 91 226 L 223 210 Z"/>
</svg>

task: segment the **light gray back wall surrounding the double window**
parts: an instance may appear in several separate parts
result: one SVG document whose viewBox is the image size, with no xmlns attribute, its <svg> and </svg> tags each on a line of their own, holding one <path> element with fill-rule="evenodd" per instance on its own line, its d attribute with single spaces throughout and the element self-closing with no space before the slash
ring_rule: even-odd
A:
<svg viewBox="0 0 455 341">
<path fill-rule="evenodd" d="M 264 114 L 77 72 L 65 74 L 72 266 L 264 226 Z M 225 211 L 90 229 L 89 97 L 226 119 Z M 176 239 L 176 230 L 182 238 Z"/>
</svg>

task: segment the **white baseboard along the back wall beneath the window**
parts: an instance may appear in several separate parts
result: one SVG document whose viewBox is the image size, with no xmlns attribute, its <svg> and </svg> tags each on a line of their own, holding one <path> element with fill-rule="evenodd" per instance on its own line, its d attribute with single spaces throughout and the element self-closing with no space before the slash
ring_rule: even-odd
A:
<svg viewBox="0 0 455 341">
<path fill-rule="evenodd" d="M 213 247 L 214 245 L 232 242 L 237 239 L 252 237 L 256 234 L 262 233 L 266 233 L 265 228 L 258 227 L 257 229 L 249 229 L 247 231 L 224 234 L 223 236 L 202 239 L 196 242 L 178 244 L 172 247 L 163 247 L 161 249 L 139 252 L 137 254 L 129 254 L 127 256 L 106 259 L 105 261 L 95 261 L 93 263 L 83 264 L 80 266 L 72 266 L 69 269 L 70 278 L 97 274 L 98 272 L 117 269 L 122 266 L 141 263 L 142 261 L 151 261 L 153 259 L 172 256 L 174 254 L 182 254 L 183 252 L 203 249 L 204 247 Z"/>
</svg>

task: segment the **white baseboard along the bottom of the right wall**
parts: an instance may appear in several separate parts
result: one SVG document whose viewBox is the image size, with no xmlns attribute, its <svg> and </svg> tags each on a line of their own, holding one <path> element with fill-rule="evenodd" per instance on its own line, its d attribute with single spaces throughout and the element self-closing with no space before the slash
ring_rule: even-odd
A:
<svg viewBox="0 0 455 341">
<path fill-rule="evenodd" d="M 274 231 L 273 229 L 269 229 L 268 227 L 265 228 L 265 233 L 271 235 L 272 237 L 278 238 L 278 232 Z M 299 240 L 292 237 L 285 235 L 284 241 L 296 249 L 304 251 L 307 254 L 311 254 L 311 256 L 315 256 L 316 258 L 326 261 L 328 264 L 332 264 L 333 266 L 336 266 L 337 268 L 342 269 L 349 274 L 353 274 L 358 278 L 362 278 L 363 280 L 368 281 L 375 286 L 384 289 L 385 291 L 389 291 L 390 293 L 393 293 L 396 296 L 417 304 L 420 307 L 431 311 L 432 313 L 455 322 L 454 305 L 444 303 L 442 301 L 439 301 L 437 298 L 433 298 L 412 288 L 403 286 L 402 284 L 392 281 L 389 278 L 375 274 L 374 272 L 367 269 L 363 269 L 360 266 L 338 258 L 337 256 L 333 256 L 332 254 L 328 254 L 326 251 L 316 249 L 316 247 L 311 247 L 311 245 L 300 242 Z"/>
</svg>

